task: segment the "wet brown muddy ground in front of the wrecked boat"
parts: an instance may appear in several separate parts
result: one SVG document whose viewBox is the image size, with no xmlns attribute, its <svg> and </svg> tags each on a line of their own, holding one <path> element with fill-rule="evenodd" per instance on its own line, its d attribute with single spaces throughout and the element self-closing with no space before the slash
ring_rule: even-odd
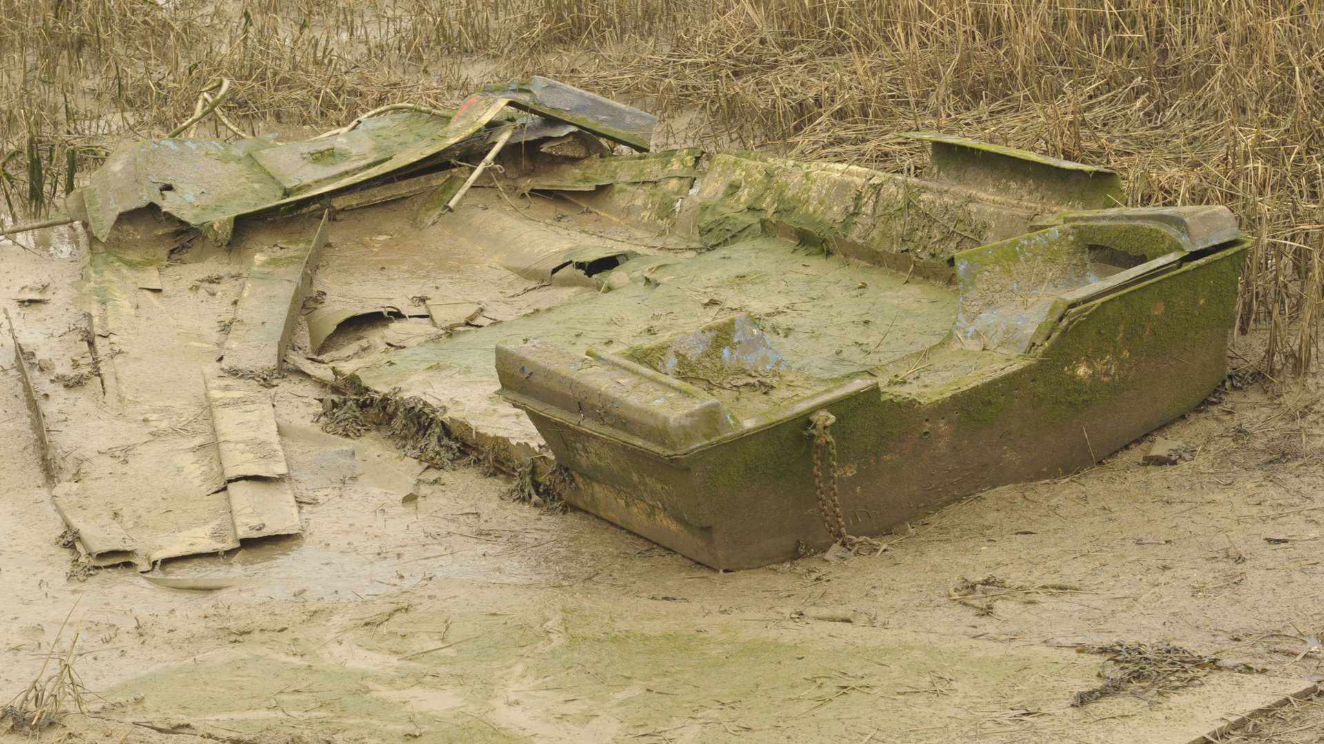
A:
<svg viewBox="0 0 1324 744">
<path fill-rule="evenodd" d="M 11 298 L 68 286 L 83 258 L 58 234 L 24 244 L 0 244 L 0 298 L 32 322 Z M 238 293 L 240 269 L 208 291 Z M 1288 695 L 1304 698 L 1218 740 L 1324 740 L 1309 381 L 1218 392 L 1158 433 L 1189 449 L 1180 465 L 1141 465 L 1147 437 L 952 504 L 870 556 L 716 573 L 459 466 L 422 470 L 406 500 L 295 473 L 302 536 L 167 561 L 152 582 L 78 569 L 58 544 L 12 359 L 5 330 L 0 699 L 75 633 L 86 692 L 38 731 L 9 718 L 4 741 L 1185 743 Z M 277 416 L 311 425 L 324 395 L 291 375 Z M 1107 654 L 1087 647 L 1117 642 L 1221 663 L 1072 706 L 1103 683 Z"/>
</svg>

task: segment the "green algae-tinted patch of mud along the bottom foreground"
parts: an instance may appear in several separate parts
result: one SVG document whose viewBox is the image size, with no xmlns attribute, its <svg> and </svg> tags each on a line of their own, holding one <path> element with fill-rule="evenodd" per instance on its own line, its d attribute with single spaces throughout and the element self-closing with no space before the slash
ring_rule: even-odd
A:
<svg viewBox="0 0 1324 744">
<path fill-rule="evenodd" d="M 1071 692 L 1099 683 L 1099 658 L 1070 649 L 637 617 L 416 609 L 326 638 L 291 629 L 279 651 L 237 645 L 102 694 L 228 736 L 298 725 L 365 741 L 854 741 L 861 731 L 884 741 L 981 732 L 1051 741 L 1067 731 L 1113 740 L 1136 720 L 1165 725 L 1139 698 L 1070 707 Z M 1239 682 L 1226 676 L 1210 684 Z"/>
</svg>

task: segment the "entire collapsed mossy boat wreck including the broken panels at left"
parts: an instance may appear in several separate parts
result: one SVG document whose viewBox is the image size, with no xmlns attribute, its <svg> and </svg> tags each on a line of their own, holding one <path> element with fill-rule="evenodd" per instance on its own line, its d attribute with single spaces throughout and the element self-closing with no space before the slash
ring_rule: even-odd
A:
<svg viewBox="0 0 1324 744">
<path fill-rule="evenodd" d="M 99 391 L 28 391 L 95 421 L 44 447 L 91 453 L 52 469 L 83 551 L 142 568 L 298 534 L 265 392 L 286 365 L 348 393 L 322 400 L 328 430 L 384 425 L 536 499 L 568 482 L 722 569 L 1086 467 L 1223 377 L 1246 249 L 1225 208 L 1121 208 L 1107 168 L 947 135 L 911 135 L 931 147 L 916 177 L 643 152 L 653 123 L 534 78 L 303 143 L 117 154 L 69 205 L 86 348 L 46 349 L 90 356 Z M 267 187 L 217 191 L 213 162 Z M 226 245 L 248 266 L 233 297 L 211 286 Z"/>
</svg>

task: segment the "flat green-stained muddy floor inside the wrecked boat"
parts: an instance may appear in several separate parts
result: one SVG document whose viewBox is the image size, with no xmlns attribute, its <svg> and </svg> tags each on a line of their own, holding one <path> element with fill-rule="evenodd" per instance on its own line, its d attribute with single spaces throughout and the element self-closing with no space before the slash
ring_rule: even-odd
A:
<svg viewBox="0 0 1324 744">
<path fill-rule="evenodd" d="M 728 384 L 703 375 L 687 380 L 744 418 L 936 343 L 947 335 L 956 310 L 951 289 L 906 282 L 892 271 L 776 238 L 673 262 L 637 261 L 645 266 L 622 289 L 400 349 L 357 369 L 355 377 L 371 389 L 400 388 L 405 395 L 428 392 L 429 380 L 437 377 L 446 379 L 453 393 L 463 387 L 494 391 L 496 344 L 519 347 L 536 339 L 576 352 L 589 347 L 618 351 L 747 312 L 785 359 L 782 384 L 765 387 L 755 379 Z M 617 270 L 630 274 L 632 263 Z M 834 322 L 824 323 L 824 318 Z"/>
</svg>

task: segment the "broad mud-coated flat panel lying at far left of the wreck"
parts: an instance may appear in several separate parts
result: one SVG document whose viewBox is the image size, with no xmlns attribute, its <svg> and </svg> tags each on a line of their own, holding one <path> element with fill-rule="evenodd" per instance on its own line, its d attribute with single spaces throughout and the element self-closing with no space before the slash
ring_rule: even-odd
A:
<svg viewBox="0 0 1324 744">
<path fill-rule="evenodd" d="M 214 266 L 169 265 L 177 244 L 159 216 L 138 210 L 117 230 L 91 238 L 77 287 L 86 314 L 52 308 L 90 315 L 91 332 L 41 339 L 38 353 L 86 355 L 90 340 L 103 381 L 44 387 L 48 414 L 77 422 L 52 432 L 56 506 L 93 560 L 148 568 L 238 545 L 201 376 L 238 286 Z M 159 270 L 160 290 L 140 287 L 143 267 Z"/>
</svg>

